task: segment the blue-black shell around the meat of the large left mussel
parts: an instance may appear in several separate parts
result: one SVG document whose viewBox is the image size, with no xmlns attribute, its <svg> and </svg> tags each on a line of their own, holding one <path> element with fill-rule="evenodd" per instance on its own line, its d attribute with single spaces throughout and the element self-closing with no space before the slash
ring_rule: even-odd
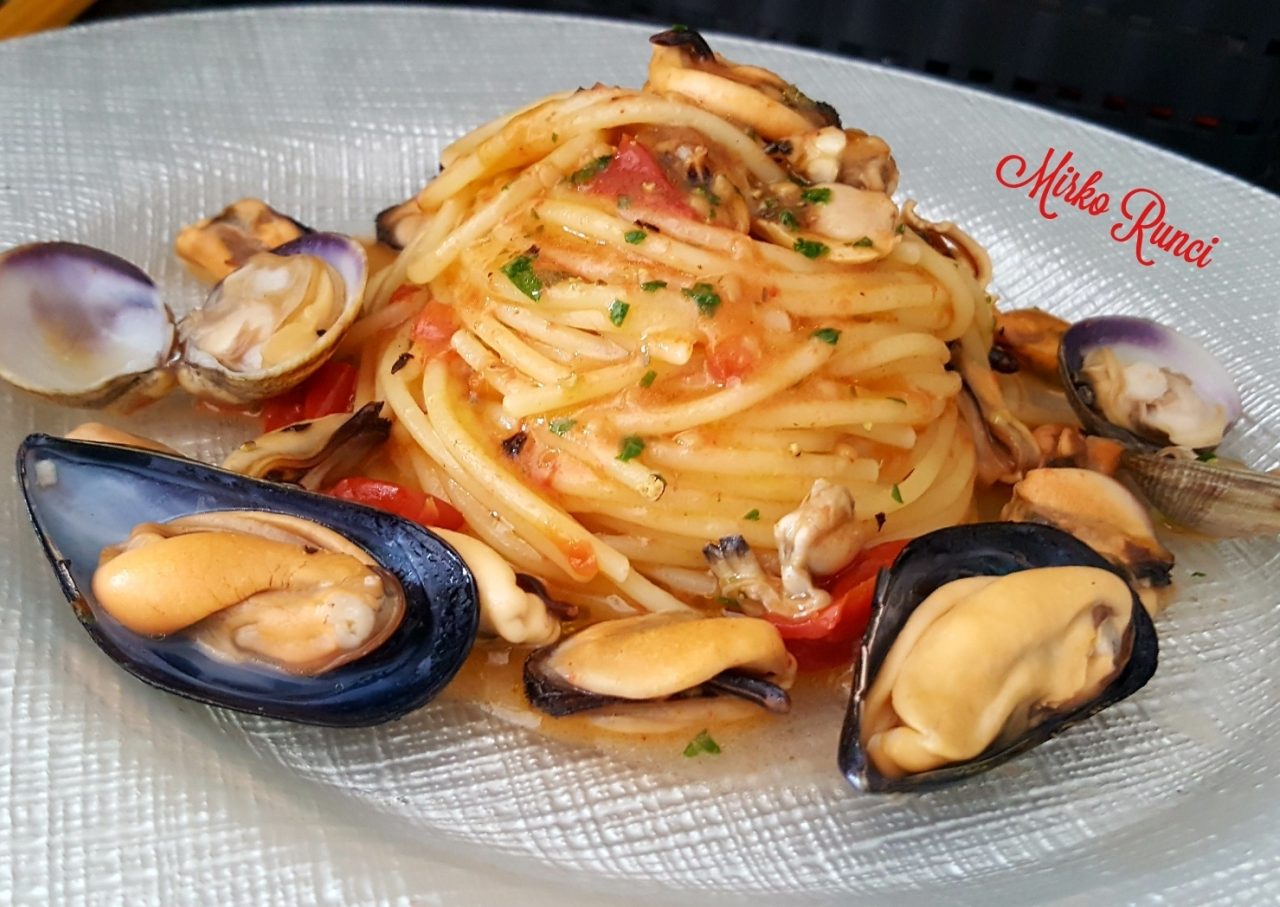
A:
<svg viewBox="0 0 1280 907">
<path fill-rule="evenodd" d="M 36 535 L 84 629 L 116 664 L 168 692 L 303 724 L 365 727 L 430 701 L 471 650 L 479 624 L 471 572 L 438 537 L 392 514 L 180 457 L 47 435 L 23 443 L 18 477 Z M 220 660 L 180 633 L 140 636 L 93 603 L 101 550 L 137 523 L 227 509 L 308 519 L 369 551 L 404 590 L 399 627 L 364 658 L 300 677 Z"/>
</svg>

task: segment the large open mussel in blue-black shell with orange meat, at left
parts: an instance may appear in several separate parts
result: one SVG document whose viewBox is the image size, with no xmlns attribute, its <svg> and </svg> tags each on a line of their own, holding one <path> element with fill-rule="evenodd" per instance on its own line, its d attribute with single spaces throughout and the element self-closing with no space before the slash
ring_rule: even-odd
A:
<svg viewBox="0 0 1280 907">
<path fill-rule="evenodd" d="M 168 692 L 306 724 L 370 725 L 431 700 L 471 649 L 471 572 L 392 514 L 46 435 L 23 443 L 18 475 L 86 631 Z"/>
</svg>

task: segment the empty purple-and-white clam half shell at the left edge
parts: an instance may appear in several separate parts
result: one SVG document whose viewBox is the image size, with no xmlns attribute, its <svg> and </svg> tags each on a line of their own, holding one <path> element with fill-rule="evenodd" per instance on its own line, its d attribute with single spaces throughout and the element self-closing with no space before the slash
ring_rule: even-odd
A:
<svg viewBox="0 0 1280 907">
<path fill-rule="evenodd" d="M 0 256 L 0 377 L 72 407 L 141 391 L 173 349 L 156 285 L 110 252 L 32 243 Z"/>
</svg>

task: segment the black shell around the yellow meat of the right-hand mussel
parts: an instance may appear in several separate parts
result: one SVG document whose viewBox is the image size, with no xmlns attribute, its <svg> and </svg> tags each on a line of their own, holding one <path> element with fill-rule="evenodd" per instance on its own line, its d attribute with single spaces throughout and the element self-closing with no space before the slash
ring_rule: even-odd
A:
<svg viewBox="0 0 1280 907">
<path fill-rule="evenodd" d="M 876 770 L 861 745 L 863 704 L 911 613 L 934 590 L 955 580 L 1005 576 L 1039 567 L 1097 567 L 1124 578 L 1084 542 L 1061 530 L 1034 523 L 975 523 L 929 532 L 911 541 L 893 565 L 881 572 L 840 734 L 840 770 L 854 788 L 868 793 L 919 792 L 972 778 L 1133 695 L 1151 679 L 1157 661 L 1156 629 L 1138 596 L 1133 595 L 1129 660 L 1097 698 L 1073 711 L 1052 715 L 1011 743 L 966 762 L 896 779 Z"/>
</svg>

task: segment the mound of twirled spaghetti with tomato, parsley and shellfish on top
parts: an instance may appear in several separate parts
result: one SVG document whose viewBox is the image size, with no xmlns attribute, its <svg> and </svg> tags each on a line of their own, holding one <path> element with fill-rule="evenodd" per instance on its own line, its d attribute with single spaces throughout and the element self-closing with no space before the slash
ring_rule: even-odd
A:
<svg viewBox="0 0 1280 907">
<path fill-rule="evenodd" d="M 658 37 L 645 88 L 447 148 L 347 342 L 402 473 L 518 571 L 652 611 L 716 599 L 724 536 L 780 571 L 815 480 L 864 540 L 960 522 L 952 348 L 993 330 L 984 253 L 892 203 L 883 142 Z"/>
</svg>

